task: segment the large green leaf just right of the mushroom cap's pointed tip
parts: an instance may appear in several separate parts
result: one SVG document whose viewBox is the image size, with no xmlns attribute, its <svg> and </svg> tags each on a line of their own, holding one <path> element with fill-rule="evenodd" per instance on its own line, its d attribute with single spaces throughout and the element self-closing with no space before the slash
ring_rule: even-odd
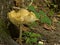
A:
<svg viewBox="0 0 60 45">
<path fill-rule="evenodd" d="M 51 25 L 50 18 L 42 10 L 39 11 L 39 14 L 40 14 L 41 23 L 47 23 L 47 24 Z"/>
</svg>

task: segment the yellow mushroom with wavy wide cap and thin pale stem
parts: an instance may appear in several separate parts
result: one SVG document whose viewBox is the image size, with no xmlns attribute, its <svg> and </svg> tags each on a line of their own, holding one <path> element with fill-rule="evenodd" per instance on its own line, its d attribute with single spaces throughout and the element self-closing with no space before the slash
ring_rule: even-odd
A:
<svg viewBox="0 0 60 45">
<path fill-rule="evenodd" d="M 17 27 L 22 26 L 23 24 L 29 24 L 38 20 L 33 12 L 29 12 L 27 9 L 20 9 L 19 11 L 12 10 L 7 14 L 8 19 Z M 20 36 L 19 39 L 22 38 L 22 30 L 20 28 Z M 21 43 L 21 42 L 19 42 Z"/>
</svg>

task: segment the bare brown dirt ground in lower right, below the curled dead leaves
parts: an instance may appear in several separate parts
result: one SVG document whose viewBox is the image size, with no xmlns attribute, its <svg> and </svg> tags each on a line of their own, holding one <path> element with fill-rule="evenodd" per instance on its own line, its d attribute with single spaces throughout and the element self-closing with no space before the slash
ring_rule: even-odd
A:
<svg viewBox="0 0 60 45">
<path fill-rule="evenodd" d="M 44 45 L 60 45 L 60 23 L 56 23 L 56 30 L 45 30 L 41 26 L 39 26 L 37 33 L 43 35 L 42 39 L 44 41 Z"/>
</svg>

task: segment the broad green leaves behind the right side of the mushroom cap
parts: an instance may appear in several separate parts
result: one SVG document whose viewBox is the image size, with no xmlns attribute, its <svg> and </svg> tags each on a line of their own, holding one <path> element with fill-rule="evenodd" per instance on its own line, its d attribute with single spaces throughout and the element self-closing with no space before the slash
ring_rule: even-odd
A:
<svg viewBox="0 0 60 45">
<path fill-rule="evenodd" d="M 28 8 L 29 10 L 33 11 L 36 15 L 36 17 L 41 21 L 41 23 L 47 23 L 51 25 L 51 20 L 50 18 L 43 12 L 42 10 L 39 11 L 39 13 L 35 10 L 34 6 L 30 6 Z M 52 15 L 53 12 L 51 11 L 50 15 Z"/>
</svg>

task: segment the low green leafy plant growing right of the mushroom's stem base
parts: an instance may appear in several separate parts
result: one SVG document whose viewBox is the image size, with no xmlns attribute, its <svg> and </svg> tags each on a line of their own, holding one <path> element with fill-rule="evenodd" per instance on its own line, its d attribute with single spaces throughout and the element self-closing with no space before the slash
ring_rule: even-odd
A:
<svg viewBox="0 0 60 45">
<path fill-rule="evenodd" d="M 24 32 L 23 33 L 24 40 L 26 44 L 33 45 L 33 43 L 37 43 L 38 38 L 41 37 L 40 34 L 36 34 L 33 32 Z"/>
</svg>

